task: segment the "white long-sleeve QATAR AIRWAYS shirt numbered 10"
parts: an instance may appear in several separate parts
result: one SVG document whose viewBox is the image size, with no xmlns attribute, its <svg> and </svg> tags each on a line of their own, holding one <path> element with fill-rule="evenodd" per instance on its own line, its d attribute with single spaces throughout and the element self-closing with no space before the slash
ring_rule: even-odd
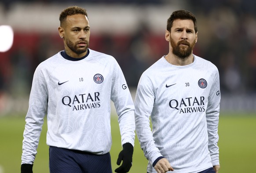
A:
<svg viewBox="0 0 256 173">
<path fill-rule="evenodd" d="M 117 111 L 121 144 L 134 145 L 134 104 L 112 56 L 90 49 L 86 58 L 70 61 L 59 52 L 40 63 L 29 96 L 22 163 L 34 162 L 45 115 L 49 146 L 97 155 L 109 152 L 110 100 Z"/>
</svg>

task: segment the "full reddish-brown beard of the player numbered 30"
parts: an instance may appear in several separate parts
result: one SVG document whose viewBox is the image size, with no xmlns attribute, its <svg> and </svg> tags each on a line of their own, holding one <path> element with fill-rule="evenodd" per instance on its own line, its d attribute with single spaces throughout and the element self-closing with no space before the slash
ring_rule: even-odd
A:
<svg viewBox="0 0 256 173">
<path fill-rule="evenodd" d="M 174 42 L 172 37 L 170 36 L 170 42 L 172 46 L 172 53 L 179 58 L 185 59 L 192 54 L 193 48 L 196 44 L 196 40 L 192 44 L 190 44 L 187 40 L 179 41 L 177 44 Z M 180 44 L 186 44 L 187 47 L 180 46 Z"/>
</svg>

